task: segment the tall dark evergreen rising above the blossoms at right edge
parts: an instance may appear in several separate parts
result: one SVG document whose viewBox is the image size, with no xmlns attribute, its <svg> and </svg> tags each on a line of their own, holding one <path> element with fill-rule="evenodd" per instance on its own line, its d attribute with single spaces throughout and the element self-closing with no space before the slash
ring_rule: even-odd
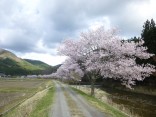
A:
<svg viewBox="0 0 156 117">
<path fill-rule="evenodd" d="M 156 54 L 156 25 L 153 19 L 144 23 L 141 38 L 145 41 L 144 46 L 148 47 L 147 51 Z"/>
</svg>

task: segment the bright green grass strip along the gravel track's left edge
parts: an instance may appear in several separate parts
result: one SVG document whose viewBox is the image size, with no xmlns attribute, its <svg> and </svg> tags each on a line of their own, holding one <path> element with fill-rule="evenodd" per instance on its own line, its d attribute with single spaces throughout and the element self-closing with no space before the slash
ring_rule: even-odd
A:
<svg viewBox="0 0 156 117">
<path fill-rule="evenodd" d="M 30 117 L 48 117 L 51 104 L 54 100 L 55 88 L 49 89 L 48 93 L 36 105 L 36 108 L 31 112 Z"/>
</svg>

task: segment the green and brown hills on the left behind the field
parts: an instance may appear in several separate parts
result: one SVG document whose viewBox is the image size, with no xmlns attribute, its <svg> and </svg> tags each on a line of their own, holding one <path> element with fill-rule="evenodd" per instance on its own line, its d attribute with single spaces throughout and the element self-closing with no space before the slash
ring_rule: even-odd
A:
<svg viewBox="0 0 156 117">
<path fill-rule="evenodd" d="M 56 68 L 44 62 L 21 59 L 14 53 L 0 49 L 0 73 L 6 75 L 50 74 Z"/>
</svg>

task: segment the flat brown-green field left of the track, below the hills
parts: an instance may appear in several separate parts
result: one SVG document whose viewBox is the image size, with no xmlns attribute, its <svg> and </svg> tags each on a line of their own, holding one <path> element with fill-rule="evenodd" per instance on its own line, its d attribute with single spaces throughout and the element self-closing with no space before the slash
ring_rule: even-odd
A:
<svg viewBox="0 0 156 117">
<path fill-rule="evenodd" d="M 0 115 L 49 85 L 45 79 L 0 79 Z"/>
</svg>

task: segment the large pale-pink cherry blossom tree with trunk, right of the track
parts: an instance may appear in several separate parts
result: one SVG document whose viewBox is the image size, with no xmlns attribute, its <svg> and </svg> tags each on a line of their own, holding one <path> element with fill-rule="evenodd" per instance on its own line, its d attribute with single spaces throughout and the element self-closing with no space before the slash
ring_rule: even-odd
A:
<svg viewBox="0 0 156 117">
<path fill-rule="evenodd" d="M 143 40 L 138 43 L 122 41 L 115 29 L 99 27 L 81 33 L 77 40 L 65 40 L 59 48 L 61 55 L 74 60 L 91 81 L 91 95 L 94 95 L 94 82 L 101 75 L 104 78 L 119 79 L 131 88 L 136 80 L 143 80 L 155 69 L 150 64 L 137 65 L 135 59 L 148 59 Z"/>
</svg>

